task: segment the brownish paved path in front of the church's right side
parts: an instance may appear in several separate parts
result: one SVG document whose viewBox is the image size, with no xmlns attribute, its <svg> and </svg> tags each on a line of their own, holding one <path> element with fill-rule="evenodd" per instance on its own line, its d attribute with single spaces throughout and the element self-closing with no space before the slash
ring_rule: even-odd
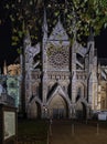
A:
<svg viewBox="0 0 107 144">
<path fill-rule="evenodd" d="M 54 121 L 51 130 L 50 144 L 107 144 L 107 128 L 97 127 L 96 123 Z"/>
</svg>

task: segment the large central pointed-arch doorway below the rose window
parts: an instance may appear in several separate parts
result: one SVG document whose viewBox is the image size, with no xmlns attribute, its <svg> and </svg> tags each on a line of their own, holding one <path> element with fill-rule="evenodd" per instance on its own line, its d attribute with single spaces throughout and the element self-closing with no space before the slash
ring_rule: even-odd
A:
<svg viewBox="0 0 107 144">
<path fill-rule="evenodd" d="M 65 119 L 68 116 L 68 106 L 60 94 L 56 94 L 50 102 L 49 115 L 53 119 Z"/>
</svg>

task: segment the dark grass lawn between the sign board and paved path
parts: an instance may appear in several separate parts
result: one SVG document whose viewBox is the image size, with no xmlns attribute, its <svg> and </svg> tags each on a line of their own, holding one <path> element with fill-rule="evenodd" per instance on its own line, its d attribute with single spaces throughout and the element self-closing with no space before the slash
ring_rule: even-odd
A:
<svg viewBox="0 0 107 144">
<path fill-rule="evenodd" d="M 19 120 L 18 121 L 18 144 L 21 142 L 40 141 L 39 144 L 46 144 L 49 124 L 44 120 Z M 28 143 L 26 143 L 28 144 Z"/>
</svg>

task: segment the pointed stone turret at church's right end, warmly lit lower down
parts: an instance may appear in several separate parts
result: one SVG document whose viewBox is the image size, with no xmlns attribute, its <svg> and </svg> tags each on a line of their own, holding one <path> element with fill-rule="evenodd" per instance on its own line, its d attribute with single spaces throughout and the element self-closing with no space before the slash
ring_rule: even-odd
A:
<svg viewBox="0 0 107 144">
<path fill-rule="evenodd" d="M 88 88 L 88 102 L 92 104 L 92 109 L 97 109 L 97 56 L 95 53 L 94 33 L 90 29 L 90 34 L 87 42 L 88 49 L 88 62 L 89 62 L 89 88 Z"/>
</svg>

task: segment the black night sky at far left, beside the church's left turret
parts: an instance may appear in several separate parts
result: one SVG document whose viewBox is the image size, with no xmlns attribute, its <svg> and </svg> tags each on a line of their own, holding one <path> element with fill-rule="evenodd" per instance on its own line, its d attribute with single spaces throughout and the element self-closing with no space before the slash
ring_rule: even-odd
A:
<svg viewBox="0 0 107 144">
<path fill-rule="evenodd" d="M 9 22 L 0 25 L 0 68 L 7 61 L 12 64 L 18 56 L 17 48 L 11 47 L 11 27 Z"/>
</svg>

